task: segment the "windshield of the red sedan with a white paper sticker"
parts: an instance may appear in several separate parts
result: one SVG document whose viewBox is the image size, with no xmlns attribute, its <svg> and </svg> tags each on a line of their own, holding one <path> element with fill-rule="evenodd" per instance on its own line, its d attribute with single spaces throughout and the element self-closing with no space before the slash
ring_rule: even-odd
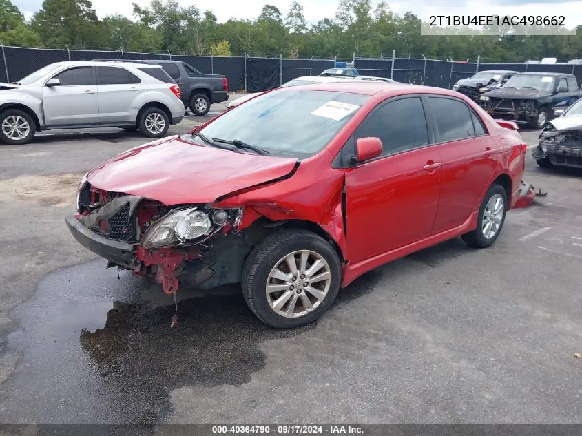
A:
<svg viewBox="0 0 582 436">
<path fill-rule="evenodd" d="M 276 90 L 226 112 L 199 133 L 211 141 L 242 141 L 273 156 L 306 158 L 320 152 L 368 98 L 347 92 Z M 204 144 L 196 136 L 184 139 Z"/>
</svg>

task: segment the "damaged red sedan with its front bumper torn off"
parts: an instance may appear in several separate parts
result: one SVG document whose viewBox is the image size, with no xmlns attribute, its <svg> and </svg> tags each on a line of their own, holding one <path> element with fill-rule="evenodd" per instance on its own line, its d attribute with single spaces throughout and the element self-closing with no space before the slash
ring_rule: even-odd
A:
<svg viewBox="0 0 582 436">
<path fill-rule="evenodd" d="M 525 151 L 454 91 L 289 87 L 88 172 L 66 222 L 170 295 L 240 283 L 260 320 L 295 327 L 386 262 L 457 236 L 491 245 Z"/>
</svg>

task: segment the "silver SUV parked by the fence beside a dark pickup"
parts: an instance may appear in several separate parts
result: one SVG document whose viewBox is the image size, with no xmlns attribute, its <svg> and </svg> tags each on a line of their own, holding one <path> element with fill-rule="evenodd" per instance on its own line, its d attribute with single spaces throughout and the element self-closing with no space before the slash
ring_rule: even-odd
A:
<svg viewBox="0 0 582 436">
<path fill-rule="evenodd" d="M 141 62 L 58 62 L 16 83 L 0 83 L 0 141 L 28 143 L 35 132 L 79 127 L 139 129 L 164 136 L 184 116 L 180 88 Z"/>
</svg>

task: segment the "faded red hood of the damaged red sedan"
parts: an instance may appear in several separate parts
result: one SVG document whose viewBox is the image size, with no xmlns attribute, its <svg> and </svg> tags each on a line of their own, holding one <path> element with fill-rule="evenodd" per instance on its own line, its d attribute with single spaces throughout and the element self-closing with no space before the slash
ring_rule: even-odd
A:
<svg viewBox="0 0 582 436">
<path fill-rule="evenodd" d="M 177 136 L 135 147 L 87 174 L 99 189 L 123 192 L 167 206 L 211 203 L 239 189 L 293 171 L 296 158 L 230 152 L 181 141 Z"/>
</svg>

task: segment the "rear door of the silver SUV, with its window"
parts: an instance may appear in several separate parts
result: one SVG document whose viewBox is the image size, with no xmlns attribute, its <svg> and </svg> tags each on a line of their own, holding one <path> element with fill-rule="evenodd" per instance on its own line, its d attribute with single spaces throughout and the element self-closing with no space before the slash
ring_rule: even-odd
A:
<svg viewBox="0 0 582 436">
<path fill-rule="evenodd" d="M 147 92 L 147 85 L 123 67 L 97 66 L 99 123 L 133 123 L 138 107 L 134 101 Z"/>
</svg>

